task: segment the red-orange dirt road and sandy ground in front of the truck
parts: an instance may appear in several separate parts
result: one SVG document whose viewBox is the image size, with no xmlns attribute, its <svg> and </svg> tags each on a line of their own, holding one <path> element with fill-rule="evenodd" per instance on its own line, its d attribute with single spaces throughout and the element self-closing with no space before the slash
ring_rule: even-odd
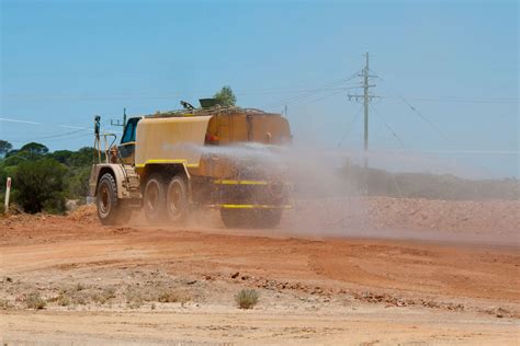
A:
<svg viewBox="0 0 520 346">
<path fill-rule="evenodd" d="M 342 344 L 347 336 L 352 344 L 518 342 L 520 254 L 512 228 L 490 231 L 490 235 L 510 238 L 510 246 L 296 238 L 286 224 L 276 237 L 271 237 L 272 231 L 221 226 L 170 229 L 134 221 L 127 227 L 102 227 L 88 209 L 69 217 L 13 216 L 0 220 L 0 228 L 1 295 L 12 304 L 2 314 L 2 337 L 8 342 L 33 342 L 35 333 L 46 335 L 46 342 L 87 344 L 204 343 L 212 337 L 238 343 Z M 472 229 L 457 231 L 475 235 Z M 66 282 L 84 282 L 92 289 L 113 285 L 116 293 L 111 305 L 65 309 L 50 298 Z M 128 308 L 123 287 L 139 282 L 173 282 L 191 298 L 182 307 L 159 304 L 155 312 L 147 305 Z M 247 314 L 233 302 L 241 288 L 261 293 L 259 305 Z M 24 310 L 23 297 L 31 289 L 48 298 L 45 311 Z M 158 319 L 157 325 L 144 327 L 149 314 Z M 26 325 L 32 316 L 37 316 L 34 327 Z M 165 332 L 168 316 L 185 327 Z M 112 334 L 106 324 L 100 326 L 102 321 L 133 326 L 134 337 Z M 256 328 L 229 332 L 244 321 Z M 99 332 L 92 330 L 97 325 Z M 218 331 L 210 333 L 211 325 Z M 197 328 L 205 332 L 197 334 Z"/>
</svg>

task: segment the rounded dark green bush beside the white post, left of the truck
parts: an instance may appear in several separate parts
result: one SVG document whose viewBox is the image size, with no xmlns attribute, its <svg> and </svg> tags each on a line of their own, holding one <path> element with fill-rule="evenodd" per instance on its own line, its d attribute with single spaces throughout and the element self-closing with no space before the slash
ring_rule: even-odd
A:
<svg viewBox="0 0 520 346">
<path fill-rule="evenodd" d="M 54 159 L 20 163 L 13 177 L 13 199 L 25 212 L 64 212 L 67 169 Z"/>
</svg>

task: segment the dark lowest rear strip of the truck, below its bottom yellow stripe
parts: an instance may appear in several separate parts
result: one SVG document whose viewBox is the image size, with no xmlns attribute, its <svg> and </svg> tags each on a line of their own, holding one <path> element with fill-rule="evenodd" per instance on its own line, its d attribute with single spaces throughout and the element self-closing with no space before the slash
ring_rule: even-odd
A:
<svg viewBox="0 0 520 346">
<path fill-rule="evenodd" d="M 275 228 L 282 218 L 282 209 L 221 209 L 221 218 L 227 228 Z"/>
</svg>

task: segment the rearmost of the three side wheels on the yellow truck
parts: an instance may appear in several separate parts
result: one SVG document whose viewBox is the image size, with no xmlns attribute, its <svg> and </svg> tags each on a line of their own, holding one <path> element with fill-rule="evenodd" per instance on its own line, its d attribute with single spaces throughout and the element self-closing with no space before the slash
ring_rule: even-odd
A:
<svg viewBox="0 0 520 346">
<path fill-rule="evenodd" d="M 188 187 L 179 175 L 172 177 L 166 189 L 166 210 L 169 220 L 174 223 L 180 223 L 188 217 Z"/>
</svg>

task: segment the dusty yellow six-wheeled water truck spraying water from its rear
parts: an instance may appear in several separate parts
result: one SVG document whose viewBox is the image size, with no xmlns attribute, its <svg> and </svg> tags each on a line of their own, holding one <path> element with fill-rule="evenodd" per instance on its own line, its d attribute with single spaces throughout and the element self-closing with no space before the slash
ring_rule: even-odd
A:
<svg viewBox="0 0 520 346">
<path fill-rule="evenodd" d="M 125 123 L 115 145 L 115 134 L 102 132 L 100 117 L 94 120 L 89 188 L 103 224 L 125 223 L 139 209 L 150 223 L 179 224 L 207 207 L 219 210 L 226 227 L 274 228 L 291 208 L 280 164 L 257 159 L 292 141 L 280 114 L 189 105 Z"/>
</svg>

